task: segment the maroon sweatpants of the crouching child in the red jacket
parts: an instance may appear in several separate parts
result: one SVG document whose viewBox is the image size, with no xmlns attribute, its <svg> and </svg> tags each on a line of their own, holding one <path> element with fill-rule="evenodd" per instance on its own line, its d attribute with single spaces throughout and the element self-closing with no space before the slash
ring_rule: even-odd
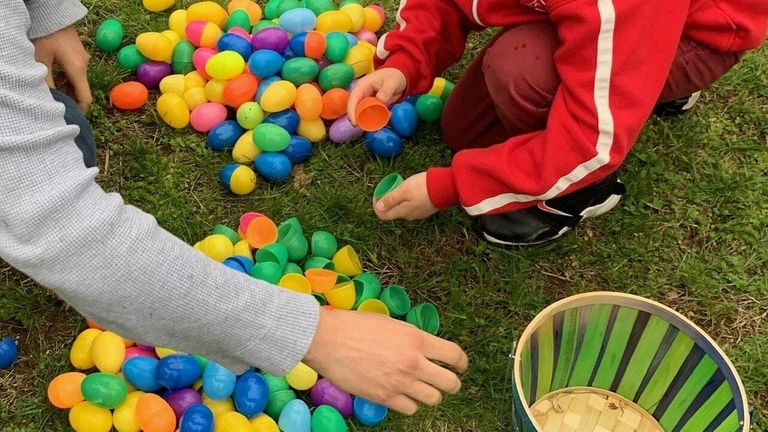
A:
<svg viewBox="0 0 768 432">
<path fill-rule="evenodd" d="M 443 110 L 443 135 L 453 151 L 488 147 L 545 128 L 560 84 L 554 63 L 558 43 L 554 24 L 540 21 L 503 30 L 480 52 Z M 741 55 L 718 53 L 683 38 L 659 102 L 714 83 Z"/>
</svg>

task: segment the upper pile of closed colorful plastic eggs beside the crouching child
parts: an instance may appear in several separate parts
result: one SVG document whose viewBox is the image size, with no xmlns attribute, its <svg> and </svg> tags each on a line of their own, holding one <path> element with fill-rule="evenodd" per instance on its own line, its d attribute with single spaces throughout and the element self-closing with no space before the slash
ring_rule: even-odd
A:
<svg viewBox="0 0 768 432">
<path fill-rule="evenodd" d="M 151 11 L 172 4 L 145 1 Z M 168 30 L 139 34 L 122 48 L 122 26 L 107 20 L 96 43 L 117 51 L 120 66 L 136 74 L 136 81 L 112 89 L 112 104 L 139 109 L 149 90 L 159 89 L 163 121 L 174 128 L 191 125 L 207 134 L 211 150 L 231 151 L 234 164 L 222 170 L 222 184 L 247 194 L 255 189 L 256 173 L 270 181 L 288 178 L 310 156 L 312 143 L 326 137 L 342 143 L 368 132 L 368 149 L 392 158 L 419 119 L 440 117 L 452 89 L 442 79 L 431 94 L 391 108 L 366 98 L 358 110 L 360 127 L 347 119 L 349 91 L 356 78 L 373 71 L 383 23 L 381 7 L 357 0 L 338 9 L 333 0 L 269 0 L 263 12 L 251 0 L 232 0 L 226 9 L 203 1 L 170 14 Z"/>
</svg>

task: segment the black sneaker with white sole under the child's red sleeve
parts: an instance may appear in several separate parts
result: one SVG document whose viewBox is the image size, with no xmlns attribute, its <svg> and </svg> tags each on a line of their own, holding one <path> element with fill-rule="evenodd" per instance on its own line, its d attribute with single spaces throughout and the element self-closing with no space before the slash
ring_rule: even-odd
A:
<svg viewBox="0 0 768 432">
<path fill-rule="evenodd" d="M 505 246 L 531 246 L 552 241 L 586 218 L 607 213 L 626 192 L 624 183 L 609 177 L 568 195 L 523 210 L 478 216 L 475 228 L 485 240 Z"/>
</svg>

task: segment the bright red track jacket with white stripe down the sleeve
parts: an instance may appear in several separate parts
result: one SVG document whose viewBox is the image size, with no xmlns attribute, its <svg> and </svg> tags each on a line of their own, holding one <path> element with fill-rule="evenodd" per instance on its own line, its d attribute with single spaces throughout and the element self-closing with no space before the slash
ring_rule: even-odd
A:
<svg viewBox="0 0 768 432">
<path fill-rule="evenodd" d="M 463 150 L 427 173 L 435 206 L 471 215 L 524 208 L 615 171 L 664 87 L 681 35 L 720 52 L 757 48 L 768 0 L 401 0 L 377 66 L 401 70 L 410 94 L 459 60 L 467 34 L 549 19 L 562 84 L 546 130 Z M 471 108 L 469 108 L 471 109 Z"/>
</svg>

